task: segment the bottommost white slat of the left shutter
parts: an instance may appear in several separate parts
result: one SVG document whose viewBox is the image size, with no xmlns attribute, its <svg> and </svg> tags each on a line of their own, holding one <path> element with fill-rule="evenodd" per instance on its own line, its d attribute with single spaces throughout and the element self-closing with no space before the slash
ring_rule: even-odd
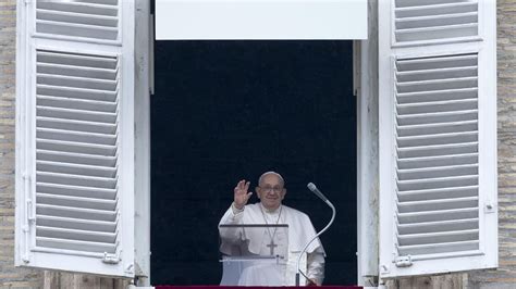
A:
<svg viewBox="0 0 516 289">
<path fill-rule="evenodd" d="M 36 237 L 36 246 L 74 251 L 114 253 L 116 244 Z"/>
</svg>

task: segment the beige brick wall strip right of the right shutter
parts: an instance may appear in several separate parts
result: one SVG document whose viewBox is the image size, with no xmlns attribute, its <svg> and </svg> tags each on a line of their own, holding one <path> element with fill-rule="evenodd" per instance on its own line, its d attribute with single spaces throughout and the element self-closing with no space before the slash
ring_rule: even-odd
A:
<svg viewBox="0 0 516 289">
<path fill-rule="evenodd" d="M 516 0 L 497 0 L 499 269 L 470 288 L 516 288 Z"/>
</svg>

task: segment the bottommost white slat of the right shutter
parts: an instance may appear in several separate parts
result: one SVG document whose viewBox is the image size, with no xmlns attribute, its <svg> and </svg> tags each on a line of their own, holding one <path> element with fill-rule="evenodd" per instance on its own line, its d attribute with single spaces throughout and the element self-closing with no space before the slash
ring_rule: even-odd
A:
<svg viewBox="0 0 516 289">
<path fill-rule="evenodd" d="M 462 241 L 446 243 L 431 243 L 417 246 L 400 246 L 400 254 L 403 255 L 427 255 L 447 252 L 472 251 L 479 249 L 479 241 Z"/>
</svg>

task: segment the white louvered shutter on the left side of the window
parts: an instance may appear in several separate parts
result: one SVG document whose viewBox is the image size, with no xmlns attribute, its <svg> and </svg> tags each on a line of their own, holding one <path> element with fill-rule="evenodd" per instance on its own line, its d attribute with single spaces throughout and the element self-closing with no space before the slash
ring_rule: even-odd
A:
<svg viewBox="0 0 516 289">
<path fill-rule="evenodd" d="M 134 277 L 133 1 L 17 11 L 16 265 Z"/>
</svg>

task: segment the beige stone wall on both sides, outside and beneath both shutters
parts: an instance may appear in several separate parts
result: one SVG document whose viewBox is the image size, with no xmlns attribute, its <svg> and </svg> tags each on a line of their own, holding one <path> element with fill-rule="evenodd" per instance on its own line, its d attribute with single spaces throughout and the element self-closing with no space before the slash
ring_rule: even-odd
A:
<svg viewBox="0 0 516 289">
<path fill-rule="evenodd" d="M 14 267 L 14 96 L 16 0 L 0 0 L 0 288 L 120 288 L 112 279 Z M 500 267 L 411 278 L 392 288 L 515 288 L 516 284 L 516 0 L 497 0 Z M 67 285 L 67 286 L 65 286 Z"/>
</svg>

